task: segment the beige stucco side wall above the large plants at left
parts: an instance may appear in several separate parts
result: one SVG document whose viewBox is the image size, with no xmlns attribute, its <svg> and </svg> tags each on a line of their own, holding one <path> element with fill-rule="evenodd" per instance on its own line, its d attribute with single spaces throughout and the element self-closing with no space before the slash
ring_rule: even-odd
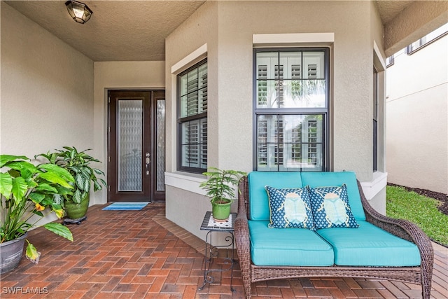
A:
<svg viewBox="0 0 448 299">
<path fill-rule="evenodd" d="M 1 1 L 0 151 L 93 147 L 93 62 Z"/>
</svg>

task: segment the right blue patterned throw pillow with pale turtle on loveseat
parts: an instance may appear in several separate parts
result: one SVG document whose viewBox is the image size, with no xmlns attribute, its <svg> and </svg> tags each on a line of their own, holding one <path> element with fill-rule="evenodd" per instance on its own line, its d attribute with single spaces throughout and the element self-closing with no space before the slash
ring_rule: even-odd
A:
<svg viewBox="0 0 448 299">
<path fill-rule="evenodd" d="M 349 205 L 347 186 L 309 188 L 314 226 L 319 228 L 358 228 Z"/>
</svg>

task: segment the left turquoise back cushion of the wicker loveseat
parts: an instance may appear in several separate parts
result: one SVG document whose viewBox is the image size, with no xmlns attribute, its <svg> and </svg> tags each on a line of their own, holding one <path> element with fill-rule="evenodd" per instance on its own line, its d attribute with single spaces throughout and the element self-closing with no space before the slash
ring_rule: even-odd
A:
<svg viewBox="0 0 448 299">
<path fill-rule="evenodd" d="M 251 220 L 269 221 L 269 200 L 265 186 L 302 188 L 300 172 L 251 172 L 248 174 Z"/>
</svg>

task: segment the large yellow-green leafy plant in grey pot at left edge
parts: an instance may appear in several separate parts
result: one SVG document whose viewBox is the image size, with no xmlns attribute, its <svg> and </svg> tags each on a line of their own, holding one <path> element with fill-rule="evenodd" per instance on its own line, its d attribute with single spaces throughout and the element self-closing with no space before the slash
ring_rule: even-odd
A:
<svg viewBox="0 0 448 299">
<path fill-rule="evenodd" d="M 74 179 L 62 167 L 36 166 L 23 155 L 0 155 L 0 168 L 0 273 L 4 273 L 20 263 L 28 230 L 53 212 L 57 218 L 64 216 L 62 197 L 71 194 Z M 70 230 L 61 223 L 42 226 L 73 241 Z M 38 263 L 40 253 L 27 242 L 27 258 Z"/>
</svg>

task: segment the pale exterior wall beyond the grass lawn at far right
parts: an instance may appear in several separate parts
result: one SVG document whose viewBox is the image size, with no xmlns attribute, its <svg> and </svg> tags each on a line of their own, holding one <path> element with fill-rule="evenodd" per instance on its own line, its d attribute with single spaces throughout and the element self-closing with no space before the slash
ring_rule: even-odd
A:
<svg viewBox="0 0 448 299">
<path fill-rule="evenodd" d="M 388 181 L 448 193 L 448 36 L 387 69 Z"/>
</svg>

